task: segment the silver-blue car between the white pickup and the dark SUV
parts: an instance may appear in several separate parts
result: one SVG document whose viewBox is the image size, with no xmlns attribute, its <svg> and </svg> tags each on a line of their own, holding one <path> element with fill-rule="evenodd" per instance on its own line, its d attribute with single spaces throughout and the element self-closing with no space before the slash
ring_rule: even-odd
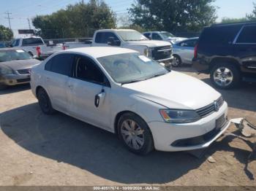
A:
<svg viewBox="0 0 256 191">
<path fill-rule="evenodd" d="M 192 64 L 197 40 L 198 37 L 173 44 L 173 66 L 177 67 L 181 66 L 181 64 Z"/>
</svg>

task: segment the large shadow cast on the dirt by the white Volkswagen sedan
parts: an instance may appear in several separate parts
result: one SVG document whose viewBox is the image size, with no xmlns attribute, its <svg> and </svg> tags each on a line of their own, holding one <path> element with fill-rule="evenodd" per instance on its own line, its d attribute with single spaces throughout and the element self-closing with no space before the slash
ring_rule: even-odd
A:
<svg viewBox="0 0 256 191">
<path fill-rule="evenodd" d="M 29 152 L 122 184 L 172 182 L 205 162 L 205 158 L 197 159 L 187 152 L 134 155 L 121 145 L 116 135 L 65 114 L 42 114 L 37 104 L 12 109 L 0 117 L 1 130 Z M 218 145 L 211 146 L 211 154 L 223 149 Z M 244 155 L 243 151 L 235 152 L 237 156 Z M 243 159 L 239 161 L 244 163 Z"/>
</svg>

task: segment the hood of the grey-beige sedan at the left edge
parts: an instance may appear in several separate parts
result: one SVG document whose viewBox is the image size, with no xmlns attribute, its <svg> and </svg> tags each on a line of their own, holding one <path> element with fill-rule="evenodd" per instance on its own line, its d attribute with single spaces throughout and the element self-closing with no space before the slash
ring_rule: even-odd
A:
<svg viewBox="0 0 256 191">
<path fill-rule="evenodd" d="M 18 61 L 9 61 L 9 62 L 1 62 L 0 66 L 8 66 L 12 70 L 17 71 L 20 69 L 31 69 L 32 66 L 40 63 L 37 59 L 29 59 L 29 60 L 18 60 Z"/>
</svg>

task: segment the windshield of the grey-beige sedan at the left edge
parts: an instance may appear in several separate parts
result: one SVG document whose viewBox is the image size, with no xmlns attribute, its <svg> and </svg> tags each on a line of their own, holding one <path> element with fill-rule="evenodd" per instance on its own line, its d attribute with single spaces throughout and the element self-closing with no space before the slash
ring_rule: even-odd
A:
<svg viewBox="0 0 256 191">
<path fill-rule="evenodd" d="M 0 62 L 28 59 L 31 59 L 31 55 L 24 50 L 0 50 Z"/>
</svg>

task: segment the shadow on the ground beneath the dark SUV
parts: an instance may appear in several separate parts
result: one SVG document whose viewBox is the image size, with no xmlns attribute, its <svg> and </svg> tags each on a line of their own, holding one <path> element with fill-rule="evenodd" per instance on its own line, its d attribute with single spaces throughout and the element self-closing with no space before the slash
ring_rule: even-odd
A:
<svg viewBox="0 0 256 191">
<path fill-rule="evenodd" d="M 202 79 L 202 81 L 214 87 L 209 78 Z M 239 87 L 233 90 L 215 89 L 222 93 L 228 106 L 256 112 L 256 83 L 242 82 Z"/>
</svg>

